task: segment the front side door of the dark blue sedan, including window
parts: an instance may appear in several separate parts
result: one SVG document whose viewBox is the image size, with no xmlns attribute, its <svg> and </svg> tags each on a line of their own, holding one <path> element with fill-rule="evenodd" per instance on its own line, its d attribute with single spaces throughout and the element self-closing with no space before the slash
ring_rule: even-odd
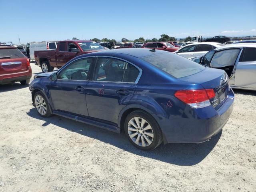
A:
<svg viewBox="0 0 256 192">
<path fill-rule="evenodd" d="M 54 110 L 88 116 L 85 91 L 93 61 L 93 58 L 75 60 L 58 72 L 58 80 L 50 86 Z"/>
</svg>

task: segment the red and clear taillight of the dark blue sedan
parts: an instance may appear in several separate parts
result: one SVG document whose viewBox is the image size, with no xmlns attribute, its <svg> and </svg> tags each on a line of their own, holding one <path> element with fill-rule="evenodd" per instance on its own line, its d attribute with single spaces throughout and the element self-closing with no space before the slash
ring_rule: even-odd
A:
<svg viewBox="0 0 256 192">
<path fill-rule="evenodd" d="M 178 90 L 174 96 L 193 108 L 201 108 L 210 105 L 209 99 L 215 97 L 213 89 Z"/>
</svg>

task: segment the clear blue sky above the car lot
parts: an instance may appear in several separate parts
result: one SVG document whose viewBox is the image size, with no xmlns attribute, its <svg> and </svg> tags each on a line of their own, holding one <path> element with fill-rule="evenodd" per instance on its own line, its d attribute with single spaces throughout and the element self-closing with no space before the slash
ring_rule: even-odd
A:
<svg viewBox="0 0 256 192">
<path fill-rule="evenodd" d="M 0 41 L 256 35 L 256 0 L 0 0 Z"/>
</svg>

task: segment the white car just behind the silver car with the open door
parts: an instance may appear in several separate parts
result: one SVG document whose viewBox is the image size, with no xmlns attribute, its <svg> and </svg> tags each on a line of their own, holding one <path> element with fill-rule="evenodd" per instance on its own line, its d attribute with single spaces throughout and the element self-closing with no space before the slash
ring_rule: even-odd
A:
<svg viewBox="0 0 256 192">
<path fill-rule="evenodd" d="M 174 53 L 180 56 L 186 57 L 188 59 L 193 59 L 202 54 L 206 54 L 208 51 L 212 49 L 216 49 L 222 46 L 224 45 L 216 42 L 194 43 L 194 44 L 186 45 L 180 48 L 179 50 L 175 51 Z"/>
</svg>

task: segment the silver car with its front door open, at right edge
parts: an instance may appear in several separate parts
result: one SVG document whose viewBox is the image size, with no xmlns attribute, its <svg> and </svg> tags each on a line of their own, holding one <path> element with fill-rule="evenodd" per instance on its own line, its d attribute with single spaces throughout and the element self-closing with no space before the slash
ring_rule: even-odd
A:
<svg viewBox="0 0 256 192">
<path fill-rule="evenodd" d="M 256 44 L 230 44 L 192 59 L 211 68 L 222 69 L 232 88 L 256 90 Z"/>
</svg>

